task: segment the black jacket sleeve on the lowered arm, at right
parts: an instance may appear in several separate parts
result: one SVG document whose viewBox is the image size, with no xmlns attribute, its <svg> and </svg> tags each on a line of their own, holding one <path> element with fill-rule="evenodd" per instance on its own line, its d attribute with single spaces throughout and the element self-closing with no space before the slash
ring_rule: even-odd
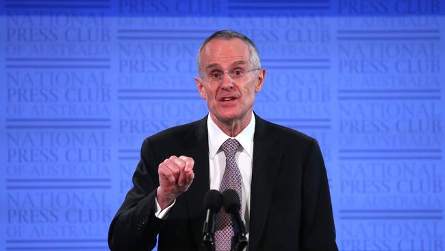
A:
<svg viewBox="0 0 445 251">
<path fill-rule="evenodd" d="M 301 249 L 338 251 L 325 162 L 315 139 L 303 168 Z"/>
</svg>

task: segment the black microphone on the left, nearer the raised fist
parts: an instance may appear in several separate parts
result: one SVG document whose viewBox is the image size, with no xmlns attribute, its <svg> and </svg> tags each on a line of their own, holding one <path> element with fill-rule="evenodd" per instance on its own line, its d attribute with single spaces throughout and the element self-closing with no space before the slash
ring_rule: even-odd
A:
<svg viewBox="0 0 445 251">
<path fill-rule="evenodd" d="M 207 211 L 203 226 L 203 246 L 207 250 L 215 250 L 215 218 L 221 208 L 222 198 L 218 190 L 209 190 L 204 196 L 204 206 Z"/>
</svg>

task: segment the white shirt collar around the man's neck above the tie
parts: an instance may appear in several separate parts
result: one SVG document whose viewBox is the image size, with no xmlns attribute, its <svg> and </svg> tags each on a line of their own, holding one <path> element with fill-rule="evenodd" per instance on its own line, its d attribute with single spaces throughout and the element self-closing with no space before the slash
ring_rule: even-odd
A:
<svg viewBox="0 0 445 251">
<path fill-rule="evenodd" d="M 212 120 L 210 114 L 207 117 L 207 130 L 209 132 L 209 154 L 210 158 L 213 159 L 215 155 L 220 150 L 221 145 L 224 141 L 231 138 L 225 134 L 218 125 Z M 247 124 L 246 128 L 242 130 L 235 138 L 242 146 L 242 151 L 246 152 L 251 158 L 253 158 L 253 134 L 255 132 L 255 115 L 251 116 L 251 121 Z"/>
</svg>

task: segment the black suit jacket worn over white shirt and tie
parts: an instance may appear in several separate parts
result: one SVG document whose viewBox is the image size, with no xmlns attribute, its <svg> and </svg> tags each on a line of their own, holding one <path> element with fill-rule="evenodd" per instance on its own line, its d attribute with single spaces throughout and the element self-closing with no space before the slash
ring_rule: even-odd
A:
<svg viewBox="0 0 445 251">
<path fill-rule="evenodd" d="M 255 115 L 249 250 L 338 250 L 325 164 L 315 139 Z M 207 117 L 142 143 L 133 188 L 108 234 L 111 250 L 204 250 L 209 190 Z M 194 159 L 195 178 L 166 219 L 154 215 L 157 167 L 172 155 Z"/>
</svg>

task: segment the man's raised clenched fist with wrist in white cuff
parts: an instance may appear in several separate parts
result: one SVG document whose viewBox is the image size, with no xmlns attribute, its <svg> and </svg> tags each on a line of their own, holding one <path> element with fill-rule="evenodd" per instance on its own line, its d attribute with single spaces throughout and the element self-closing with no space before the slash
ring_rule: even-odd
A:
<svg viewBox="0 0 445 251">
<path fill-rule="evenodd" d="M 160 187 L 157 188 L 156 198 L 161 210 L 190 187 L 194 178 L 193 165 L 193 158 L 186 156 L 171 156 L 160 163 L 157 169 Z"/>
</svg>

